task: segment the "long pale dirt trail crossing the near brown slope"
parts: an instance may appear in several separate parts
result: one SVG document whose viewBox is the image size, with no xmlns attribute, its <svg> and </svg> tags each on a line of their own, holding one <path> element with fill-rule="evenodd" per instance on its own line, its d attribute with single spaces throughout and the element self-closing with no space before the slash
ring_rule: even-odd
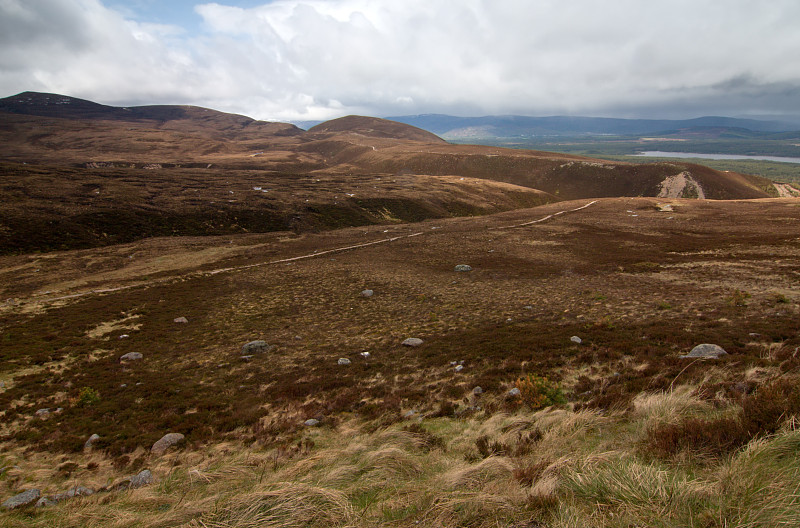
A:
<svg viewBox="0 0 800 528">
<path fill-rule="evenodd" d="M 514 228 L 518 228 L 518 227 L 525 227 L 525 226 L 529 226 L 529 225 L 538 224 L 538 223 L 545 222 L 547 220 L 550 220 L 551 218 L 555 218 L 555 217 L 557 217 L 559 215 L 562 215 L 562 214 L 565 214 L 565 213 L 573 213 L 575 211 L 580 211 L 581 209 L 586 209 L 587 207 L 589 207 L 590 205 L 595 204 L 595 203 L 597 203 L 597 200 L 593 200 L 593 201 L 587 203 L 586 205 L 582 205 L 580 207 L 576 207 L 575 209 L 565 209 L 563 211 L 558 211 L 557 213 L 549 214 L 549 215 L 547 215 L 545 217 L 539 218 L 538 220 L 531 220 L 530 222 L 524 222 L 522 224 L 501 226 L 501 227 L 492 228 L 492 229 L 514 229 Z M 214 270 L 210 270 L 210 271 L 195 271 L 195 272 L 186 273 L 184 275 L 166 277 L 166 278 L 163 278 L 163 279 L 155 279 L 155 280 L 150 280 L 150 281 L 147 281 L 147 282 L 140 282 L 140 283 L 137 283 L 137 284 L 130 284 L 130 285 L 127 285 L 127 286 L 118 286 L 116 288 L 98 288 L 98 289 L 93 289 L 93 290 L 89 290 L 89 291 L 85 291 L 85 292 L 72 293 L 70 295 L 62 295 L 62 296 L 59 296 L 59 297 L 50 297 L 50 298 L 37 299 L 34 296 L 34 297 L 29 297 L 27 299 L 13 299 L 13 300 L 10 300 L 10 301 L 6 301 L 5 303 L 3 303 L 0 306 L 2 308 L 7 308 L 9 306 L 19 307 L 19 306 L 25 306 L 27 304 L 33 304 L 33 303 L 49 304 L 49 303 L 54 303 L 54 302 L 58 302 L 58 301 L 67 301 L 67 300 L 71 300 L 71 299 L 78 299 L 80 297 L 86 297 L 86 296 L 89 296 L 89 295 L 102 295 L 104 293 L 114 293 L 114 292 L 123 291 L 123 290 L 132 290 L 132 289 L 135 289 L 135 288 L 148 288 L 150 286 L 155 286 L 155 285 L 158 285 L 158 284 L 168 284 L 168 283 L 171 283 L 171 282 L 175 282 L 175 281 L 179 281 L 179 280 L 186 280 L 186 279 L 191 279 L 191 278 L 196 278 L 196 277 L 210 277 L 210 276 L 213 276 L 213 275 L 219 275 L 220 273 L 230 273 L 230 272 L 242 271 L 242 270 L 246 270 L 246 269 L 258 268 L 258 267 L 262 267 L 262 266 L 273 266 L 275 264 L 284 264 L 284 263 L 287 263 L 287 262 L 296 262 L 296 261 L 299 261 L 299 260 L 307 260 L 307 259 L 311 259 L 311 258 L 321 257 L 323 255 L 330 255 L 330 254 L 334 254 L 334 253 L 342 253 L 344 251 L 352 251 L 352 250 L 355 250 L 355 249 L 374 246 L 374 245 L 377 245 L 377 244 L 387 244 L 387 243 L 390 243 L 390 242 L 395 242 L 397 240 L 417 237 L 417 236 L 420 236 L 420 235 L 423 235 L 423 234 L 425 234 L 423 231 L 419 231 L 419 232 L 416 232 L 416 233 L 411 233 L 409 235 L 401 235 L 401 236 L 396 236 L 396 237 L 383 238 L 381 240 L 374 240 L 372 242 L 365 242 L 363 244 L 355 244 L 355 245 L 352 245 L 352 246 L 344 246 L 344 247 L 339 247 L 339 248 L 334 248 L 334 249 L 328 249 L 328 250 L 325 250 L 325 251 L 317 251 L 317 252 L 314 252 L 314 253 L 309 253 L 309 254 L 306 254 L 306 255 L 300 255 L 300 256 L 297 256 L 297 257 L 289 257 L 289 258 L 278 259 L 278 260 L 269 260 L 269 261 L 266 261 L 266 262 L 259 262 L 259 263 L 256 263 L 256 264 L 247 264 L 247 265 L 244 265 L 244 266 L 232 266 L 232 267 L 228 267 L 228 268 L 218 268 L 218 269 L 214 269 Z"/>
</svg>

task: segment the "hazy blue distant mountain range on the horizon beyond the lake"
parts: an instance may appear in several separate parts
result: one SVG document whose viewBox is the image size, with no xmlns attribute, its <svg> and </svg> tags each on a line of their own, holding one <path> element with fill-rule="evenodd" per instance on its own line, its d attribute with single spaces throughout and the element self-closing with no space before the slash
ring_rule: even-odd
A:
<svg viewBox="0 0 800 528">
<path fill-rule="evenodd" d="M 755 136 L 796 131 L 800 122 L 785 120 L 740 119 L 707 116 L 695 119 L 618 119 L 607 117 L 550 116 L 528 117 L 519 115 L 457 117 L 445 114 L 421 114 L 387 117 L 432 132 L 446 140 L 530 138 L 537 136 L 614 135 L 642 136 L 669 135 L 679 131 L 700 129 L 729 129 L 753 132 Z M 318 124 L 317 121 L 295 122 L 301 128 Z"/>
</svg>

